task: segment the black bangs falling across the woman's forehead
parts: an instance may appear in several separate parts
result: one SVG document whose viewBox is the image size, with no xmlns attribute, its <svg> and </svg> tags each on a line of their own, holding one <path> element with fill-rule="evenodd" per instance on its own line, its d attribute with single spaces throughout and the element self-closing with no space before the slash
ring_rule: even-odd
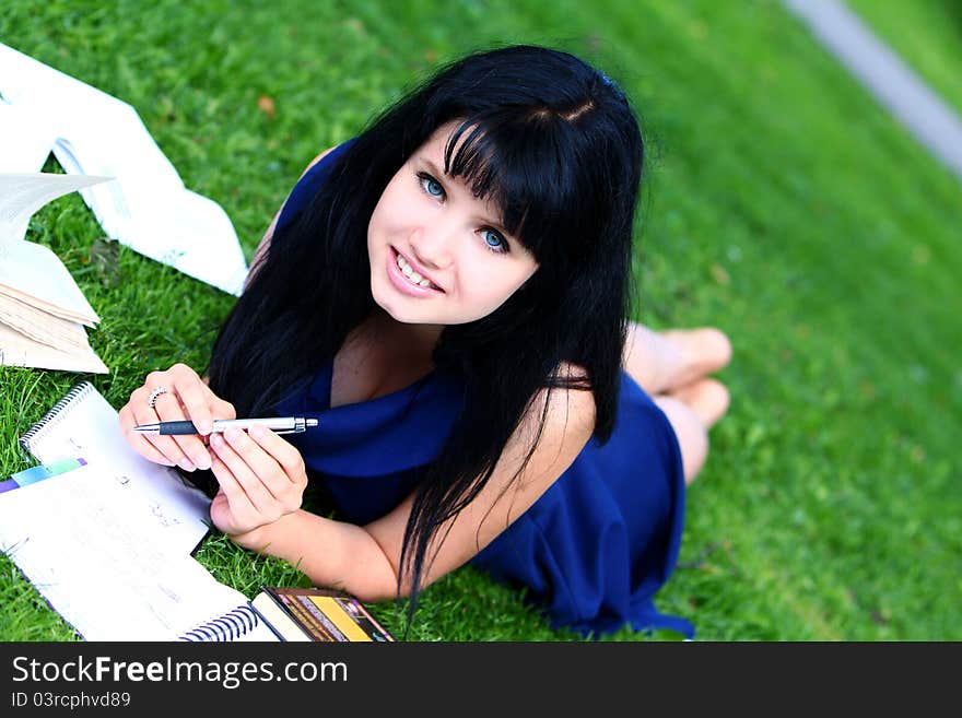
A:
<svg viewBox="0 0 962 718">
<path fill-rule="evenodd" d="M 481 113 L 451 134 L 444 169 L 474 197 L 493 202 L 504 228 L 539 263 L 577 259 L 590 244 L 583 231 L 593 226 L 594 213 L 586 210 L 596 201 L 585 197 L 590 163 L 578 162 L 577 134 L 550 110 L 520 117 L 517 108 Z"/>
</svg>

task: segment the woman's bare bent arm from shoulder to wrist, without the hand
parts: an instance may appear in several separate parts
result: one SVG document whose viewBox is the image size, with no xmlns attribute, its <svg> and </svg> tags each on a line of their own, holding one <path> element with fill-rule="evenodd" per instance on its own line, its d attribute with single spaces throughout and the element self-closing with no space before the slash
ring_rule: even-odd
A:
<svg viewBox="0 0 962 718">
<path fill-rule="evenodd" d="M 595 402 L 588 391 L 554 389 L 544 429 L 528 466 L 515 483 L 544 409 L 547 391 L 531 403 L 508 439 L 481 493 L 443 526 L 429 549 L 422 586 L 461 566 L 527 510 L 571 466 L 591 436 Z M 243 535 L 237 543 L 284 558 L 317 586 L 345 590 L 363 601 L 392 598 L 397 591 L 401 543 L 413 495 L 366 526 L 354 526 L 296 510 Z M 439 539 L 444 538 L 443 543 Z M 407 592 L 409 587 L 402 587 Z"/>
</svg>

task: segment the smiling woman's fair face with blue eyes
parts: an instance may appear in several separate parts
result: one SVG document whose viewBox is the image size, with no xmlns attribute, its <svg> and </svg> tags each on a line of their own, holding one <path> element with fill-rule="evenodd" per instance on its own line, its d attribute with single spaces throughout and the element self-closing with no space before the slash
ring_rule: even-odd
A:
<svg viewBox="0 0 962 718">
<path fill-rule="evenodd" d="M 367 226 L 374 301 L 406 323 L 480 319 L 538 269 L 501 226 L 498 208 L 444 174 L 444 148 L 457 126 L 442 126 L 411 155 Z"/>
</svg>

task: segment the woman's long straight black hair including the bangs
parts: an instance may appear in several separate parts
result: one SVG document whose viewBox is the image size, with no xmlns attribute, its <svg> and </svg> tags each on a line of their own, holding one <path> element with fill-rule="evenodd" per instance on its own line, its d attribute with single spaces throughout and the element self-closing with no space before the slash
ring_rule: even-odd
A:
<svg viewBox="0 0 962 718">
<path fill-rule="evenodd" d="M 643 164 L 625 95 L 579 58 L 544 47 L 511 46 L 443 67 L 375 118 L 277 231 L 208 367 L 214 392 L 238 415 L 257 415 L 333 357 L 375 309 L 366 243 L 375 205 L 411 154 L 451 121 L 445 173 L 493 200 L 539 267 L 489 316 L 446 327 L 434 349 L 435 367 L 464 378 L 465 401 L 406 528 L 398 597 L 407 582 L 411 611 L 429 546 L 483 489 L 540 390 L 590 390 L 595 437 L 611 434 Z M 562 363 L 578 372 L 562 375 Z M 525 462 L 543 422 L 542 414 Z"/>
</svg>

